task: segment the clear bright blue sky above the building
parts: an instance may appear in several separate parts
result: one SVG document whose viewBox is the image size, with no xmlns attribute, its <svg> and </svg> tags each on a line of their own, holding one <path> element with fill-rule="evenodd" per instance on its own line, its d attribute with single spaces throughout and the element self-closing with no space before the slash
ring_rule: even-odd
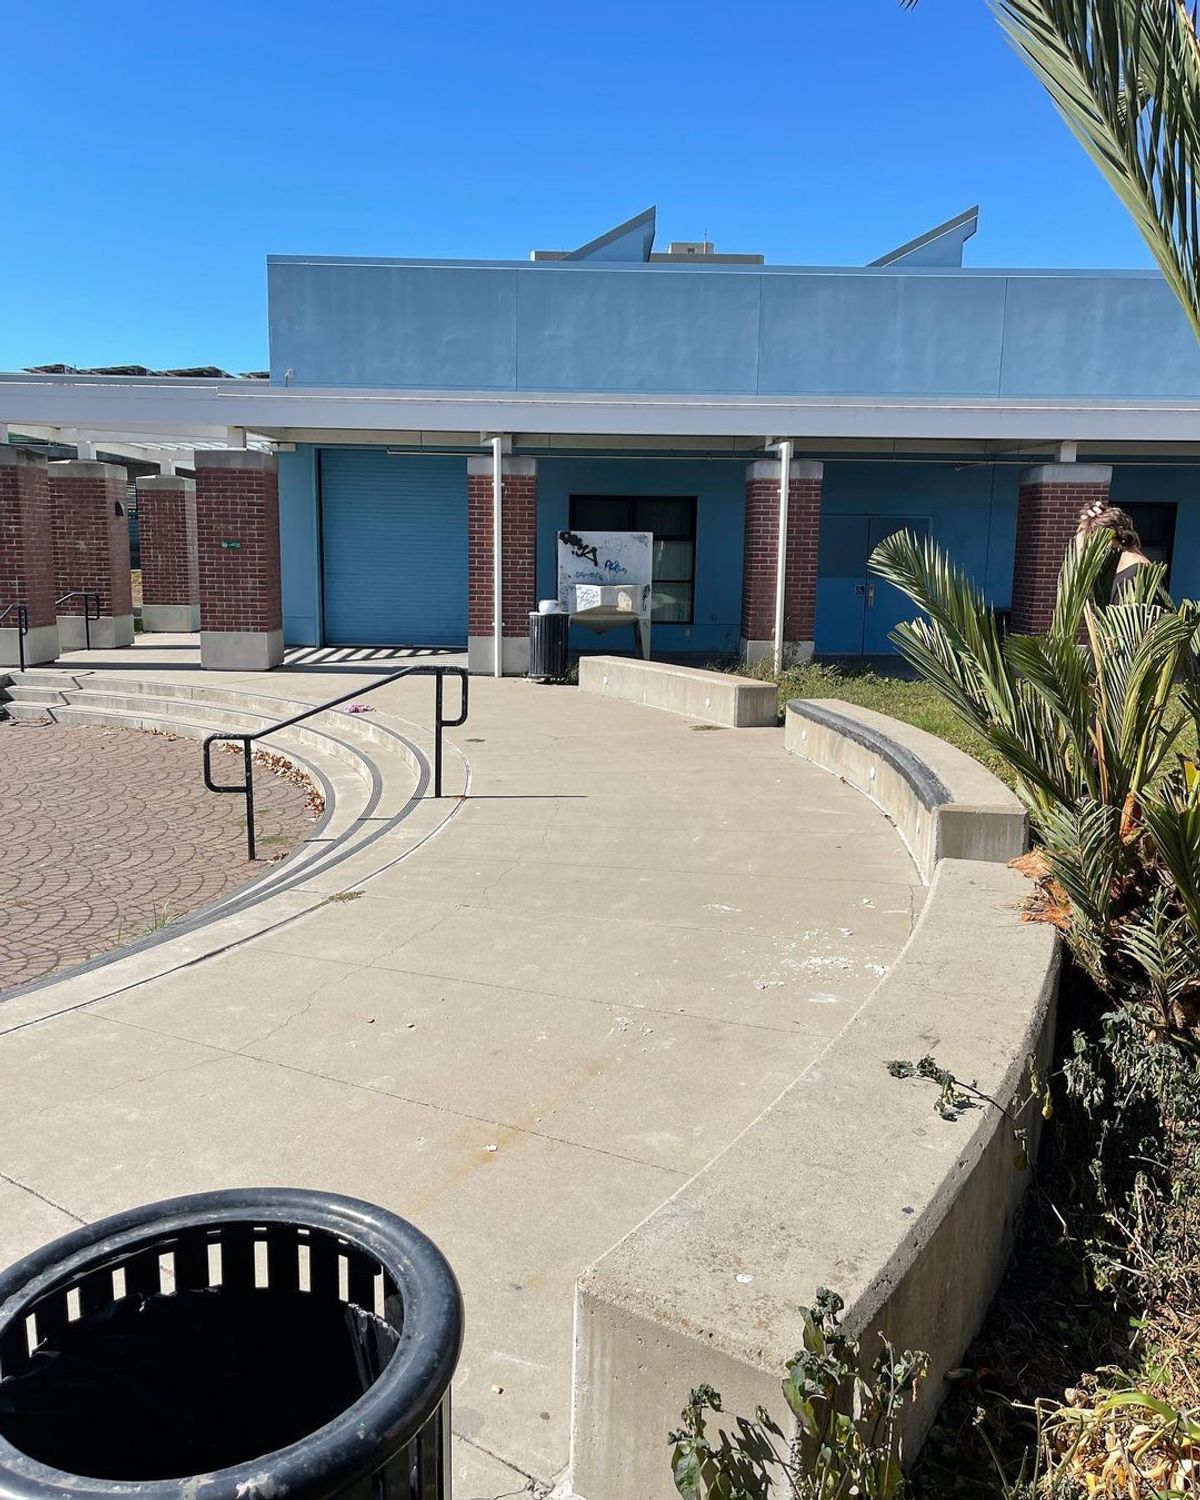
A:
<svg viewBox="0 0 1200 1500">
<path fill-rule="evenodd" d="M 660 243 L 1142 267 L 986 0 L 40 0 L 4 26 L 0 369 L 266 364 L 267 254 Z"/>
</svg>

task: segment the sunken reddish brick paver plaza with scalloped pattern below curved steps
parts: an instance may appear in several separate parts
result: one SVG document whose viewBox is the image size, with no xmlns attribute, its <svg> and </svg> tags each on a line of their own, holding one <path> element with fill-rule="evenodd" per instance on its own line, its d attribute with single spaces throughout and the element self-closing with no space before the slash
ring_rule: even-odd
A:
<svg viewBox="0 0 1200 1500">
<path fill-rule="evenodd" d="M 260 774 L 255 798 L 250 867 L 242 798 L 204 790 L 194 740 L 0 722 L 0 990 L 207 906 L 314 825 L 300 786 Z"/>
</svg>

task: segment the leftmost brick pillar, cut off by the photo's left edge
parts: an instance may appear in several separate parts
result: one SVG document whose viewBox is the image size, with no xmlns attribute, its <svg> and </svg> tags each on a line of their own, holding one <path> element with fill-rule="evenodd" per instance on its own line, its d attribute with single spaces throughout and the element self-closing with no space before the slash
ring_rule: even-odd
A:
<svg viewBox="0 0 1200 1500">
<path fill-rule="evenodd" d="M 0 442 L 0 615 L 9 604 L 28 610 L 26 663 L 58 656 L 54 610 L 54 534 L 50 524 L 46 460 Z M 0 621 L 0 666 L 21 660 L 16 610 Z"/>
</svg>

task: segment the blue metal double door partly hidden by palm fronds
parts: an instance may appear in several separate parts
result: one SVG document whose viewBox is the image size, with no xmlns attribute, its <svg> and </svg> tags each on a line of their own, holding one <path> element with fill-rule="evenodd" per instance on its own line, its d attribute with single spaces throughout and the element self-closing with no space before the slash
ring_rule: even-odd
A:
<svg viewBox="0 0 1200 1500">
<path fill-rule="evenodd" d="M 819 656 L 888 656 L 888 632 L 916 614 L 912 603 L 872 573 L 868 560 L 894 531 L 928 532 L 927 516 L 820 518 L 816 584 L 816 650 Z"/>
</svg>

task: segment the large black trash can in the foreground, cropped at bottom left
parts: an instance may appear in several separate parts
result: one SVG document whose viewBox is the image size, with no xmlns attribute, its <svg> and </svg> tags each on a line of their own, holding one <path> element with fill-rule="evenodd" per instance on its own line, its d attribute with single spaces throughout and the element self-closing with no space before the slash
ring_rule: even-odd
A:
<svg viewBox="0 0 1200 1500">
<path fill-rule="evenodd" d="M 357 1198 L 171 1198 L 0 1275 L 0 1500 L 448 1500 L 462 1296 Z"/>
</svg>

